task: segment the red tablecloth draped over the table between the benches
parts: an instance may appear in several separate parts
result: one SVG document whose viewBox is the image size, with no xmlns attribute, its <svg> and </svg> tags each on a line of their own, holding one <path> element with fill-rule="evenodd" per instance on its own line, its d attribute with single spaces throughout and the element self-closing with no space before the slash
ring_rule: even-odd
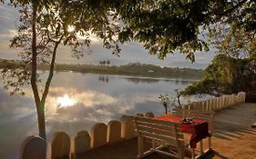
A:
<svg viewBox="0 0 256 159">
<path fill-rule="evenodd" d="M 174 123 L 181 123 L 182 117 L 176 116 L 157 116 L 156 119 L 165 120 Z M 193 124 L 181 124 L 184 133 L 191 134 L 189 144 L 191 148 L 196 148 L 200 140 L 210 137 L 208 123 L 199 119 L 194 119 Z"/>
</svg>

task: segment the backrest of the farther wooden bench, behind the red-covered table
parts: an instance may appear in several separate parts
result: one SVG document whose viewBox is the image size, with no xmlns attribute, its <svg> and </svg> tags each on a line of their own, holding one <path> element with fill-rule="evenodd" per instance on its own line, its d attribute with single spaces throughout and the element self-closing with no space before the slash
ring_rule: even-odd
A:
<svg viewBox="0 0 256 159">
<path fill-rule="evenodd" d="M 176 109 L 172 112 L 178 117 L 193 117 L 195 119 L 200 119 L 206 121 L 209 124 L 209 132 L 214 132 L 214 112 L 213 111 L 202 111 L 194 109 Z"/>
</svg>

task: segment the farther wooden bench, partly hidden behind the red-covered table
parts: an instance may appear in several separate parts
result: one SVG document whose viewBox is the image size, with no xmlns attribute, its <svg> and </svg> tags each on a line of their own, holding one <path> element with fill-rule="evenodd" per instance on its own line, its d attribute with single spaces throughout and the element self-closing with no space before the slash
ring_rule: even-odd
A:
<svg viewBox="0 0 256 159">
<path fill-rule="evenodd" d="M 173 115 L 178 117 L 193 117 L 196 119 L 200 119 L 202 121 L 206 121 L 209 124 L 209 133 L 212 135 L 214 132 L 214 112 L 213 111 L 201 111 L 194 109 L 176 109 L 172 112 Z M 211 146 L 211 137 L 208 137 L 208 149 L 203 151 L 203 142 L 200 141 L 200 155 L 205 154 L 212 150 Z M 192 158 L 197 158 L 195 156 L 195 149 L 192 149 Z"/>
</svg>

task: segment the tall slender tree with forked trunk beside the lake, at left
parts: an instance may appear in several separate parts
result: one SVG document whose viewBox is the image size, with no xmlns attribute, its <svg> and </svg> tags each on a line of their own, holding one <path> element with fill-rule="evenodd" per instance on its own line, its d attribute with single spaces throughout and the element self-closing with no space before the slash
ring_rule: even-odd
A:
<svg viewBox="0 0 256 159">
<path fill-rule="evenodd" d="M 46 139 L 46 97 L 54 75 L 57 49 L 60 45 L 72 48 L 73 55 L 80 57 L 83 48 L 89 46 L 90 35 L 102 39 L 103 45 L 113 48 L 118 54 L 118 33 L 115 18 L 111 18 L 111 7 L 106 1 L 100 5 L 82 1 L 11 1 L 20 7 L 18 35 L 11 41 L 11 47 L 19 47 L 21 62 L 18 66 L 6 67 L 2 74 L 5 87 L 11 93 L 24 94 L 21 86 L 31 84 L 36 104 L 39 135 Z M 49 64 L 49 73 L 43 93 L 40 94 L 38 65 Z M 14 78 L 15 77 L 15 78 Z"/>
</svg>

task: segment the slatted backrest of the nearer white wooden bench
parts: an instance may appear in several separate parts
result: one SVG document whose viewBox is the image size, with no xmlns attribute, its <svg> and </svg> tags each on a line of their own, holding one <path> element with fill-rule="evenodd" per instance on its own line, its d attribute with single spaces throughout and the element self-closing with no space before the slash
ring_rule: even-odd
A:
<svg viewBox="0 0 256 159">
<path fill-rule="evenodd" d="M 134 121 L 138 136 L 165 142 L 175 147 L 184 147 L 180 124 L 141 116 L 135 116 Z"/>
</svg>

